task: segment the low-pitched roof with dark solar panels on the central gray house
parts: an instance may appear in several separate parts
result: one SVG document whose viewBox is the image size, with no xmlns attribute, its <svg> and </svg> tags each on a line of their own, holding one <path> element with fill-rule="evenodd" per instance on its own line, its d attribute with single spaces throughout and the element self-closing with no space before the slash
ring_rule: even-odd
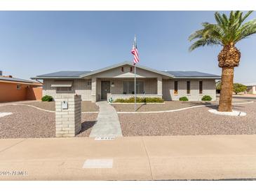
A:
<svg viewBox="0 0 256 192">
<path fill-rule="evenodd" d="M 43 78 L 84 78 L 87 76 L 91 76 L 93 74 L 100 73 L 102 71 L 107 71 L 110 69 L 114 69 L 116 67 L 121 67 L 125 64 L 133 66 L 133 62 L 121 62 L 119 64 L 114 64 L 109 67 L 105 67 L 102 69 L 97 69 L 95 71 L 58 71 L 50 74 L 43 74 L 36 77 L 32 77 L 32 79 L 43 79 Z M 159 71 L 156 69 L 151 69 L 142 64 L 137 64 L 137 68 L 144 69 L 147 71 L 152 71 L 156 74 L 161 74 L 163 76 L 168 76 L 170 78 L 220 78 L 215 74 L 206 74 L 198 71 Z"/>
</svg>

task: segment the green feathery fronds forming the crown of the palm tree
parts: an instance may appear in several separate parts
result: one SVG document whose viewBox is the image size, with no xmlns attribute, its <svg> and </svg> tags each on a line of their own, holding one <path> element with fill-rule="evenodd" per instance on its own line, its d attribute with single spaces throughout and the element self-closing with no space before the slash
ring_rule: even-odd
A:
<svg viewBox="0 0 256 192">
<path fill-rule="evenodd" d="M 225 14 L 215 13 L 217 23 L 203 22 L 202 29 L 197 30 L 189 36 L 189 41 L 194 41 L 189 50 L 201 46 L 234 45 L 241 39 L 256 33 L 256 20 L 245 22 L 252 13 L 248 11 L 243 15 L 241 11 L 231 11 L 229 17 Z"/>
</svg>

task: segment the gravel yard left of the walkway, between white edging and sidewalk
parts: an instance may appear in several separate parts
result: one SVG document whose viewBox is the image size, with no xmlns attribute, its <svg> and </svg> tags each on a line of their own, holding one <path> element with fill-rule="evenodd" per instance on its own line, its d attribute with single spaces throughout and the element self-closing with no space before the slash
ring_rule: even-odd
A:
<svg viewBox="0 0 256 192">
<path fill-rule="evenodd" d="M 55 137 L 55 113 L 28 106 L 1 106 L 1 112 L 12 112 L 0 118 L 0 139 Z M 77 137 L 88 137 L 97 114 L 82 114 L 82 130 Z"/>
</svg>

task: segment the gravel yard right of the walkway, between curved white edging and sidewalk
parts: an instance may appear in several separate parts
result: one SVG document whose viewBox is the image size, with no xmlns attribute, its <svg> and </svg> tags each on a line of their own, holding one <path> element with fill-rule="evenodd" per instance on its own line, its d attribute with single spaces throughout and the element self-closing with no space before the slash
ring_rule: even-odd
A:
<svg viewBox="0 0 256 192">
<path fill-rule="evenodd" d="M 256 102 L 234 104 L 244 117 L 218 116 L 199 107 L 157 114 L 119 114 L 123 136 L 256 134 Z"/>
</svg>

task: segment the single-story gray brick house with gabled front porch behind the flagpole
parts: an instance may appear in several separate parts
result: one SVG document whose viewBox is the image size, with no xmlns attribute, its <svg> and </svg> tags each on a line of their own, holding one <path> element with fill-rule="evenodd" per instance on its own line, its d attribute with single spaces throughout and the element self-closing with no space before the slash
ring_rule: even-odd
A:
<svg viewBox="0 0 256 192">
<path fill-rule="evenodd" d="M 122 62 L 95 71 L 58 71 L 32 79 L 43 80 L 43 95 L 81 95 L 83 101 L 108 100 L 112 97 L 134 96 L 134 65 Z M 179 100 L 186 96 L 190 101 L 210 95 L 216 100 L 215 80 L 220 76 L 198 71 L 159 71 L 136 64 L 137 97 L 160 97 Z"/>
</svg>

